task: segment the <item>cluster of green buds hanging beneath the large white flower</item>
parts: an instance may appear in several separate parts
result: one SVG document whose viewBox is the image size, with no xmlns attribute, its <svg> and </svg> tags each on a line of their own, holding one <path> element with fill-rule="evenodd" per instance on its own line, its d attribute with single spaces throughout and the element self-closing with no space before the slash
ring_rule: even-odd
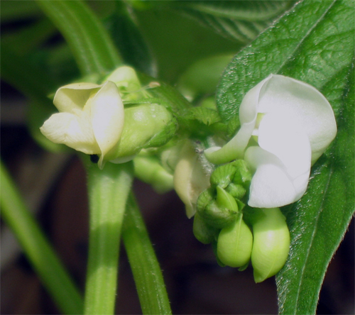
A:
<svg viewBox="0 0 355 315">
<path fill-rule="evenodd" d="M 251 179 L 244 160 L 217 167 L 197 199 L 193 231 L 200 242 L 212 243 L 220 265 L 245 270 L 251 261 L 254 280 L 262 282 L 285 264 L 290 233 L 280 209 L 245 206 Z"/>
</svg>

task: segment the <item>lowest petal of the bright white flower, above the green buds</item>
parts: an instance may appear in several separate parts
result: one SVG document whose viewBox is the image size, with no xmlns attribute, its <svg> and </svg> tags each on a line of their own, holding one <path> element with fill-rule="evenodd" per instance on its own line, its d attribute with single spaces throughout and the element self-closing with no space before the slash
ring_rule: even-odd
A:
<svg viewBox="0 0 355 315">
<path fill-rule="evenodd" d="M 250 147 L 245 156 L 246 160 L 256 167 L 251 179 L 249 206 L 274 208 L 291 204 L 300 198 L 293 180 L 275 155 L 259 147 Z"/>
</svg>

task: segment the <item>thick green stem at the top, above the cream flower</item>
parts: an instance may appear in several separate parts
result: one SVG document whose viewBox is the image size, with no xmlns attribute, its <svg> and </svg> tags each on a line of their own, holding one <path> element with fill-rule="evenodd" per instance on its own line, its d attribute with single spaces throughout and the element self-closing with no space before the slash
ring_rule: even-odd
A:
<svg viewBox="0 0 355 315">
<path fill-rule="evenodd" d="M 97 16 L 80 0 L 37 0 L 70 46 L 82 74 L 105 74 L 121 63 Z"/>
</svg>

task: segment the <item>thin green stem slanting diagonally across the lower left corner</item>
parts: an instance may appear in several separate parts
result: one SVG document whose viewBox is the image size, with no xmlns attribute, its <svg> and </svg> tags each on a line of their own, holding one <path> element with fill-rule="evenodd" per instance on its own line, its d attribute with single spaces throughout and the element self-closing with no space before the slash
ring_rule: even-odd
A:
<svg viewBox="0 0 355 315">
<path fill-rule="evenodd" d="M 59 309 L 65 314 L 82 314 L 82 297 L 67 274 L 40 226 L 23 203 L 11 177 L 0 162 L 1 217 L 18 238 L 31 265 Z"/>
</svg>

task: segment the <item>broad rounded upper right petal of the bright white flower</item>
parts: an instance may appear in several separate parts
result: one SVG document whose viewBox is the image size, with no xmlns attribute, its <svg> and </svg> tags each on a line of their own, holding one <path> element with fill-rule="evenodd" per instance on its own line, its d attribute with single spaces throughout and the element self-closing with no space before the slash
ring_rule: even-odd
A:
<svg viewBox="0 0 355 315">
<path fill-rule="evenodd" d="M 260 89 L 259 113 L 293 116 L 302 124 L 310 139 L 312 162 L 315 162 L 334 140 L 337 123 L 329 101 L 309 84 L 271 74 Z"/>
</svg>

